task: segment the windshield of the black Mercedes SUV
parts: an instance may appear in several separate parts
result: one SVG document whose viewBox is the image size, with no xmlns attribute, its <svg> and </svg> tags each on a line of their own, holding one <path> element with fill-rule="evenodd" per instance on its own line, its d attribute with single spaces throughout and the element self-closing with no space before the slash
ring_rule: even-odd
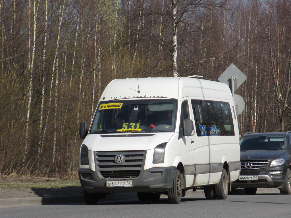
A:
<svg viewBox="0 0 291 218">
<path fill-rule="evenodd" d="M 286 150 L 285 136 L 243 137 L 240 142 L 241 151 L 249 150 Z"/>
</svg>

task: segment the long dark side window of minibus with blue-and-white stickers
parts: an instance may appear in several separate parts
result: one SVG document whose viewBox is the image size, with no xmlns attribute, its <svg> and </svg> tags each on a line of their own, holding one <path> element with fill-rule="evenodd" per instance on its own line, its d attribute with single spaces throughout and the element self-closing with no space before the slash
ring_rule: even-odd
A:
<svg viewBox="0 0 291 218">
<path fill-rule="evenodd" d="M 191 100 L 198 136 L 235 135 L 228 102 Z"/>
</svg>

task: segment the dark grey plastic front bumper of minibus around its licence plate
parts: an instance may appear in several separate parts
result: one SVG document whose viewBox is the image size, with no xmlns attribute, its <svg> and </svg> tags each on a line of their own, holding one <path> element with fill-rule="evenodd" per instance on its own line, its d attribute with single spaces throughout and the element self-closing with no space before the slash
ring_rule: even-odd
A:
<svg viewBox="0 0 291 218">
<path fill-rule="evenodd" d="M 140 176 L 125 179 L 97 177 L 96 171 L 79 169 L 81 187 L 88 193 L 165 192 L 172 187 L 176 167 L 142 170 Z M 132 187 L 106 187 L 106 181 L 132 180 Z"/>
</svg>

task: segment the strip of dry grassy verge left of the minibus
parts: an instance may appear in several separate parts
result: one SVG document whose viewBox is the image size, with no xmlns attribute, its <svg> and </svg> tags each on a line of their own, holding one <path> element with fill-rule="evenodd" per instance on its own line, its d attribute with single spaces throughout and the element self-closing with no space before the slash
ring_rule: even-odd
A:
<svg viewBox="0 0 291 218">
<path fill-rule="evenodd" d="M 61 188 L 66 186 L 80 186 L 79 179 L 72 180 L 60 178 L 45 178 L 34 176 L 20 176 L 10 174 L 0 176 L 0 189 L 2 188 Z"/>
</svg>

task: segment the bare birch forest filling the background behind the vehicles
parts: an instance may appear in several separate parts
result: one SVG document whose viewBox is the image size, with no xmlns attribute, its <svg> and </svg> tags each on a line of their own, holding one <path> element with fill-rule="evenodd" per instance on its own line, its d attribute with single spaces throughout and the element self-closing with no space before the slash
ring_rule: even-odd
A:
<svg viewBox="0 0 291 218">
<path fill-rule="evenodd" d="M 240 134 L 291 130 L 289 0 L 0 0 L 0 175 L 76 178 L 115 78 L 246 76 Z"/>
</svg>

